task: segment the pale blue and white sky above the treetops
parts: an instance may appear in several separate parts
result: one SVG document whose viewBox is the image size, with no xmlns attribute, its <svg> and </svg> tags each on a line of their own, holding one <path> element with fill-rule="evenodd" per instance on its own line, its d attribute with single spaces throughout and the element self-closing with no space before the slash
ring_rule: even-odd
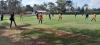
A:
<svg viewBox="0 0 100 45">
<path fill-rule="evenodd" d="M 31 5 L 34 4 L 43 4 L 48 2 L 56 2 L 57 0 L 22 0 L 22 4 L 25 5 Z M 74 6 L 80 6 L 82 7 L 84 4 L 88 4 L 90 8 L 100 8 L 100 0 L 72 0 Z"/>
</svg>

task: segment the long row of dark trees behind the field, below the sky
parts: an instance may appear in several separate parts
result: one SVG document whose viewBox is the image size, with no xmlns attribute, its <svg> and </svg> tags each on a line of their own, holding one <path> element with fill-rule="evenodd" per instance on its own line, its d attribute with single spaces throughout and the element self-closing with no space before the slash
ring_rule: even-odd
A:
<svg viewBox="0 0 100 45">
<path fill-rule="evenodd" d="M 77 5 L 77 4 L 76 4 Z M 78 12 L 82 13 L 84 11 L 84 7 L 88 6 L 88 4 L 84 4 L 83 7 L 78 7 L 74 5 L 71 0 L 57 0 L 55 3 L 48 2 L 43 4 L 34 4 L 33 6 L 22 5 L 22 0 L 1 0 L 0 1 L 0 13 L 22 13 L 22 12 L 35 12 L 36 10 L 45 10 L 49 13 L 73 13 Z M 90 9 L 90 10 L 98 10 L 98 9 Z M 100 11 L 99 11 L 100 12 Z"/>
</svg>

